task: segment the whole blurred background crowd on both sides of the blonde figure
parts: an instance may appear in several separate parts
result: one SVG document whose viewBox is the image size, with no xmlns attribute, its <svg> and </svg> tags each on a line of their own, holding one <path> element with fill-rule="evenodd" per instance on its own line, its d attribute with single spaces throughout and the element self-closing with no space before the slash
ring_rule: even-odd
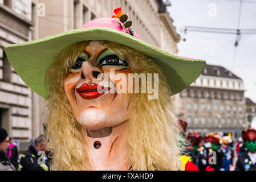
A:
<svg viewBox="0 0 256 182">
<path fill-rule="evenodd" d="M 237 141 L 231 134 L 200 134 L 197 131 L 186 134 L 187 123 L 179 119 L 185 139 L 185 151 L 181 159 L 192 162 L 196 170 L 205 171 L 256 171 L 256 130 L 242 131 Z M 43 135 L 30 140 L 30 146 L 19 155 L 17 143 L 0 127 L 0 171 L 49 171 L 50 152 Z"/>
</svg>

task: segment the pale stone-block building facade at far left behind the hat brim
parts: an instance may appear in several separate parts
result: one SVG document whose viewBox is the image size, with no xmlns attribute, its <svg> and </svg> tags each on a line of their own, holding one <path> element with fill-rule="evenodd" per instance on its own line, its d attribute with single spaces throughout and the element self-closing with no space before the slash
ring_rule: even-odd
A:
<svg viewBox="0 0 256 182">
<path fill-rule="evenodd" d="M 4 47 L 30 41 L 33 26 L 31 1 L 0 0 L 0 125 L 22 150 L 32 137 L 33 93 L 11 67 Z"/>
</svg>

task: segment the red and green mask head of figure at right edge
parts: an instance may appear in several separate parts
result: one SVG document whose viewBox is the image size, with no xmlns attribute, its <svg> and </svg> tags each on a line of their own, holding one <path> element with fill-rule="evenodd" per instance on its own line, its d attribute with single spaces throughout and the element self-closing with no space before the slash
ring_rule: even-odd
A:
<svg viewBox="0 0 256 182">
<path fill-rule="evenodd" d="M 248 151 L 256 151 L 256 130 L 249 128 L 242 131 L 242 138 Z"/>
</svg>

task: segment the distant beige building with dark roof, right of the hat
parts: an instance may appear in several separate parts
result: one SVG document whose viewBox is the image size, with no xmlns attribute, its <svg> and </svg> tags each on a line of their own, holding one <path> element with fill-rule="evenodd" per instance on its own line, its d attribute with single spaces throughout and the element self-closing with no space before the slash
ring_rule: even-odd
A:
<svg viewBox="0 0 256 182">
<path fill-rule="evenodd" d="M 239 136 L 247 127 L 243 81 L 224 67 L 206 65 L 180 94 L 188 132 L 222 131 Z"/>
</svg>

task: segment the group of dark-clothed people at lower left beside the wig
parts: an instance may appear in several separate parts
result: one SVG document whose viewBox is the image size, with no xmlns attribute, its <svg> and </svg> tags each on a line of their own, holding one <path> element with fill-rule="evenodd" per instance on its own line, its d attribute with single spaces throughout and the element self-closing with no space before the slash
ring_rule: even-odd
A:
<svg viewBox="0 0 256 182">
<path fill-rule="evenodd" d="M 43 135 L 30 140 L 30 146 L 19 155 L 17 143 L 0 127 L 0 171 L 49 171 L 50 152 Z"/>
</svg>

